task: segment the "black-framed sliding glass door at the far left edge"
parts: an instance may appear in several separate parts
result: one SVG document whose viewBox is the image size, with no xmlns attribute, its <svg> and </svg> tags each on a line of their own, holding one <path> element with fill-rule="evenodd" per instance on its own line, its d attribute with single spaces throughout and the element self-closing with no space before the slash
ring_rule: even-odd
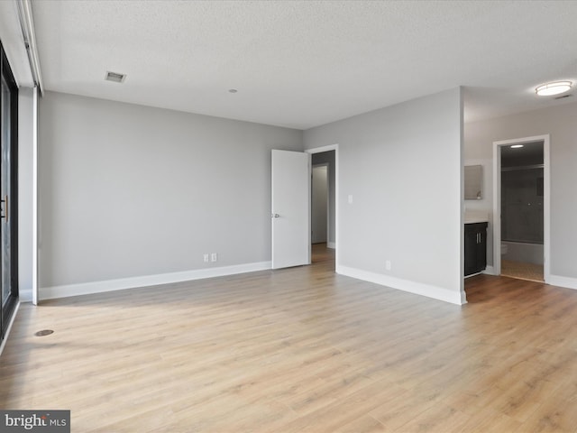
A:
<svg viewBox="0 0 577 433">
<path fill-rule="evenodd" d="M 18 300 L 18 88 L 1 42 L 0 54 L 0 336 L 4 338 Z"/>
</svg>

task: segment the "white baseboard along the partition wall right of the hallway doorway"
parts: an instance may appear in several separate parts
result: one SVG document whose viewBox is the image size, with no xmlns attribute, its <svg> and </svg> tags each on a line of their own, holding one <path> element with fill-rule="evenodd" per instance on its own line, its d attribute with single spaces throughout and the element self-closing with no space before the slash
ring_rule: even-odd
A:
<svg viewBox="0 0 577 433">
<path fill-rule="evenodd" d="M 442 287 L 423 284 L 422 282 L 403 280 L 389 275 L 383 275 L 376 272 L 362 271 L 360 269 L 350 268 L 348 266 L 337 266 L 336 273 L 356 278 L 357 280 L 370 281 L 381 286 L 387 286 L 392 289 L 408 291 L 417 295 L 426 296 L 438 300 L 444 300 L 452 304 L 463 305 L 467 303 L 464 290 L 456 292 L 446 290 Z"/>
</svg>

